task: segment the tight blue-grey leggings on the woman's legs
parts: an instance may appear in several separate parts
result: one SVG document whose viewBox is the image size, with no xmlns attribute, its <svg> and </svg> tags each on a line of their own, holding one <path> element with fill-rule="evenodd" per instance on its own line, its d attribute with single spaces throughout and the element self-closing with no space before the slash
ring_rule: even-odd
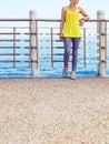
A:
<svg viewBox="0 0 109 144">
<path fill-rule="evenodd" d="M 72 45 L 72 71 L 76 71 L 76 69 L 77 69 L 79 43 L 80 43 L 80 38 L 63 38 L 65 66 L 68 66 L 68 62 L 69 62 L 69 58 L 70 58 L 70 50 L 71 50 L 71 45 Z"/>
</svg>

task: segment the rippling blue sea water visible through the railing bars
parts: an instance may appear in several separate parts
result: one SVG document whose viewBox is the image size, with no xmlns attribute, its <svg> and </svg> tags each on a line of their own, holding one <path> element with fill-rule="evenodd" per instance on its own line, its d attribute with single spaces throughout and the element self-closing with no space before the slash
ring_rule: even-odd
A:
<svg viewBox="0 0 109 144">
<path fill-rule="evenodd" d="M 8 45 L 12 47 L 13 43 L 7 43 Z M 56 43 L 53 47 L 58 47 L 59 43 Z M 6 43 L 0 43 L 0 47 L 4 47 Z M 48 45 L 50 47 L 50 43 L 47 43 L 46 40 L 42 43 L 39 43 L 39 56 L 38 56 L 38 69 L 39 69 L 39 78 L 62 78 L 62 70 L 63 70 L 63 49 L 53 49 L 53 53 L 61 53 L 61 55 L 53 55 L 51 58 L 51 48 L 47 49 Z M 60 45 L 63 47 L 63 43 L 61 42 Z M 12 62 L 0 62 L 0 78 L 32 78 L 31 75 L 31 69 L 29 65 L 29 62 L 24 62 L 26 60 L 29 61 L 29 49 L 24 49 L 24 47 L 29 47 L 29 42 L 24 43 L 18 43 L 17 47 L 20 47 L 20 49 L 16 50 L 16 53 L 19 53 L 19 55 L 16 56 L 16 60 L 20 62 L 16 62 L 16 66 L 13 68 Z M 42 47 L 42 49 L 40 49 Z M 77 66 L 77 76 L 97 76 L 98 74 L 98 48 L 96 42 L 89 42 L 87 43 L 87 47 L 89 49 L 86 49 L 86 55 L 85 50 L 82 49 L 83 42 L 80 42 L 80 49 L 78 54 L 78 66 Z M 0 53 L 13 53 L 13 49 L 0 49 Z M 27 53 L 28 55 L 24 55 Z M 48 54 L 49 53 L 49 54 Z M 109 50 L 107 50 L 107 53 L 109 53 Z M 56 62 L 51 62 L 51 59 Z M 69 76 L 71 71 L 71 59 L 70 55 L 70 62 L 69 62 Z M 85 62 L 86 59 L 86 62 Z M 0 60 L 13 60 L 13 55 L 1 55 Z M 107 56 L 107 60 L 109 58 Z M 60 62 L 57 62 L 60 61 Z M 109 68 L 109 65 L 108 65 Z M 109 69 L 107 69 L 107 74 L 109 74 Z"/>
</svg>

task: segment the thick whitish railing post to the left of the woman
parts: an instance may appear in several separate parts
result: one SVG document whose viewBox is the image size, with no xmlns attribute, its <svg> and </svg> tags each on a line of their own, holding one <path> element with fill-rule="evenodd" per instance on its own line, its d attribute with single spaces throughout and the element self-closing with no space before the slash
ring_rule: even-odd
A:
<svg viewBox="0 0 109 144">
<path fill-rule="evenodd" d="M 38 69 L 38 27 L 37 27 L 37 12 L 36 10 L 30 11 L 30 58 L 31 58 L 31 75 L 38 76 L 39 69 Z"/>
</svg>

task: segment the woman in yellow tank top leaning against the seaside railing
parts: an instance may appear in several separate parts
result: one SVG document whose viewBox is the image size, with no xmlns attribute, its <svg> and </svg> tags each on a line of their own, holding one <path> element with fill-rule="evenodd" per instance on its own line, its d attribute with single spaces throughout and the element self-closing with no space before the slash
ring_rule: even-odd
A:
<svg viewBox="0 0 109 144">
<path fill-rule="evenodd" d="M 83 25 L 85 21 L 89 19 L 88 13 L 77 4 L 79 0 L 70 0 L 70 4 L 63 7 L 61 10 L 60 21 L 60 40 L 63 39 L 65 45 L 65 68 L 63 75 L 68 75 L 68 62 L 70 58 L 70 49 L 72 44 L 72 70 L 71 79 L 76 79 L 76 69 L 78 61 L 78 48 L 81 38 L 80 27 Z M 80 17 L 81 14 L 81 17 Z"/>
</svg>

